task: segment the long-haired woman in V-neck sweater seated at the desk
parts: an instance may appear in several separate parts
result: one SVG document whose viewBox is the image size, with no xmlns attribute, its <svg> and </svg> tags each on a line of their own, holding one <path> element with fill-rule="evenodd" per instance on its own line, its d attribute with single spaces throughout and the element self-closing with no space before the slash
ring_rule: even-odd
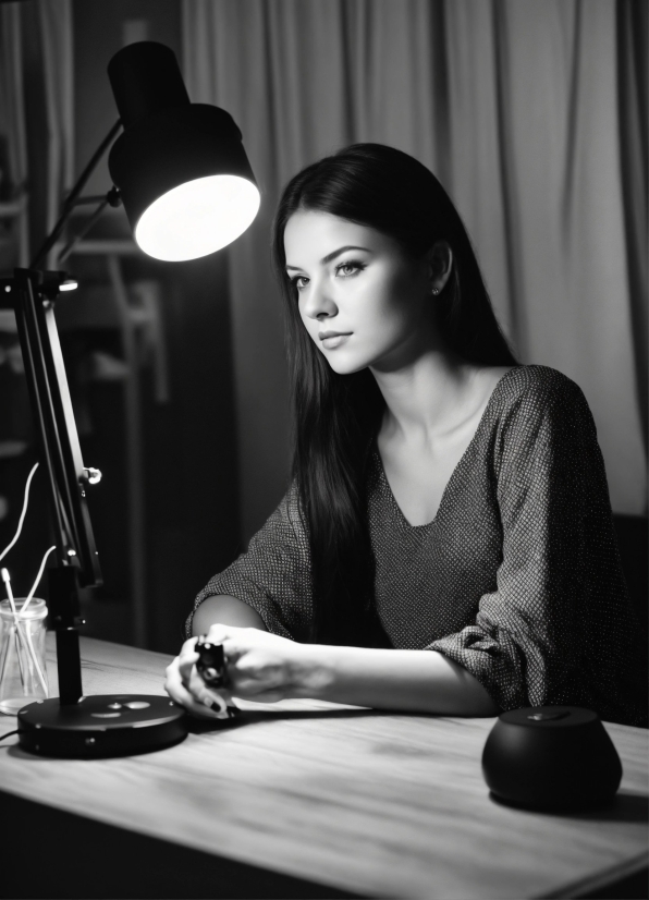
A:
<svg viewBox="0 0 649 900">
<path fill-rule="evenodd" d="M 187 634 L 222 643 L 170 695 L 493 716 L 575 704 L 640 723 L 638 625 L 579 388 L 521 366 L 437 179 L 359 144 L 286 186 L 273 233 L 293 388 L 293 481 Z"/>
</svg>

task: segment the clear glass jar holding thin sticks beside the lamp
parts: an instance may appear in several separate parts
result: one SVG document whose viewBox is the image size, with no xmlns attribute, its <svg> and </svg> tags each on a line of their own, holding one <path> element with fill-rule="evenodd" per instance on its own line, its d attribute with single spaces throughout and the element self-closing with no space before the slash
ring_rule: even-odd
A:
<svg viewBox="0 0 649 900">
<path fill-rule="evenodd" d="M 22 706 L 48 696 L 45 658 L 45 600 L 35 597 L 23 612 L 25 597 L 0 603 L 0 713 L 15 716 Z"/>
</svg>

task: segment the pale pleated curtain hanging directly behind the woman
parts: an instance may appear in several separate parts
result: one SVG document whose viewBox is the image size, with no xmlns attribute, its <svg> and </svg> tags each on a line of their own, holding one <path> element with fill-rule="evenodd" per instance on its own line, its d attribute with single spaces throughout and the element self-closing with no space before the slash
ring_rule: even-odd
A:
<svg viewBox="0 0 649 900">
<path fill-rule="evenodd" d="M 245 538 L 289 469 L 273 208 L 360 141 L 438 174 L 522 361 L 577 381 L 614 510 L 646 514 L 646 22 L 644 0 L 183 0 L 189 96 L 234 117 L 262 191 L 228 251 Z"/>
</svg>

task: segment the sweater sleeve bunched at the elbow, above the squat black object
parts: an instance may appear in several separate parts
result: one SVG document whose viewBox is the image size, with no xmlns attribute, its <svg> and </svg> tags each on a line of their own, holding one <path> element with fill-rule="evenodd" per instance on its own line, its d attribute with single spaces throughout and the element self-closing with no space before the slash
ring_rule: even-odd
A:
<svg viewBox="0 0 649 900">
<path fill-rule="evenodd" d="M 623 690 L 632 611 L 602 455 L 580 389 L 565 376 L 526 387 L 495 431 L 503 542 L 475 622 L 431 643 L 501 709 L 575 703 L 637 719 Z M 595 661 L 595 662 L 593 662 Z M 633 692 L 632 692 L 633 693 Z"/>
</svg>

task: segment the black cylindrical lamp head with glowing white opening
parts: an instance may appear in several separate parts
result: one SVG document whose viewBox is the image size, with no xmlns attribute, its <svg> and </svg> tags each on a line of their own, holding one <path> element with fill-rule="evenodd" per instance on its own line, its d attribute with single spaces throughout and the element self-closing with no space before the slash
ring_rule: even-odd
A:
<svg viewBox="0 0 649 900">
<path fill-rule="evenodd" d="M 180 262 L 238 238 L 260 197 L 232 117 L 189 102 L 175 56 L 161 44 L 124 47 L 108 74 L 124 126 L 108 166 L 138 246 Z"/>
</svg>

